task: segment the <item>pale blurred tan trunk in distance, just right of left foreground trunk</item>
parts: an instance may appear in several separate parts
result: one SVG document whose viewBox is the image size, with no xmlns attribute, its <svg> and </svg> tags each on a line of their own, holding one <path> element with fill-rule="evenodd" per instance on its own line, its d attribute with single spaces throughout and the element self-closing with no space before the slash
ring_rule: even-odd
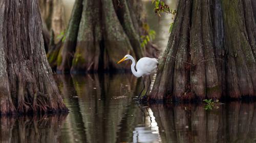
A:
<svg viewBox="0 0 256 143">
<path fill-rule="evenodd" d="M 42 36 L 44 38 L 46 53 L 56 53 L 62 45 L 61 38 L 65 33 L 67 25 L 63 2 L 62 0 L 39 0 L 39 8 L 42 18 Z M 50 39 L 52 38 L 53 42 L 50 43 Z M 51 58 L 52 57 L 48 57 L 49 61 L 56 60 L 56 58 Z"/>
</svg>

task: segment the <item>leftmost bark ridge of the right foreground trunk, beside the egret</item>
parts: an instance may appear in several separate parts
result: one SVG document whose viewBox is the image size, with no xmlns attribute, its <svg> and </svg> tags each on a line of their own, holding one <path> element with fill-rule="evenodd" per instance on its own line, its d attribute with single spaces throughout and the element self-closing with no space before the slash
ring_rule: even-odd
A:
<svg viewBox="0 0 256 143">
<path fill-rule="evenodd" d="M 170 33 L 167 43 L 167 47 L 169 48 L 165 50 L 163 58 L 160 60 L 156 81 L 151 92 L 151 99 L 162 100 L 173 93 L 173 71 L 176 54 L 182 35 L 187 35 L 186 30 L 184 30 L 183 27 L 186 29 L 188 27 L 188 23 L 184 22 L 183 16 L 190 13 L 190 11 L 188 11 L 190 6 L 190 1 L 186 0 L 181 0 L 178 5 L 178 13 L 175 17 L 173 30 L 172 33 Z"/>
</svg>

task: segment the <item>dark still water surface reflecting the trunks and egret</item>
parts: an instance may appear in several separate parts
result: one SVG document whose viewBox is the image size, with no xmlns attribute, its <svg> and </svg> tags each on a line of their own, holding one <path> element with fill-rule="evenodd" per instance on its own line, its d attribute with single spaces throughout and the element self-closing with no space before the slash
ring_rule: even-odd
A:
<svg viewBox="0 0 256 143">
<path fill-rule="evenodd" d="M 68 115 L 1 117 L 1 142 L 255 142 L 256 104 L 148 105 L 131 74 L 56 77 Z"/>
</svg>

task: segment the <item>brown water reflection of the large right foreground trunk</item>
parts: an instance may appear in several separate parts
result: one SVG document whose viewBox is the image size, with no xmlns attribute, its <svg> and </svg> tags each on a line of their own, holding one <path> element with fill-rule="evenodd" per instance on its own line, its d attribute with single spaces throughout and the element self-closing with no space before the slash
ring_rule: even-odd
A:
<svg viewBox="0 0 256 143">
<path fill-rule="evenodd" d="M 254 142 L 255 103 L 152 105 L 162 142 Z"/>
</svg>

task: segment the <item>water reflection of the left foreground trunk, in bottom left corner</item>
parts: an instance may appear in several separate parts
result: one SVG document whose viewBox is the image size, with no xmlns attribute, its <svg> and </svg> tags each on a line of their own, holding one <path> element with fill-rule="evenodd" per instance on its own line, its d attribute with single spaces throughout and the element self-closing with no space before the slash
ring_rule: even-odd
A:
<svg viewBox="0 0 256 143">
<path fill-rule="evenodd" d="M 44 116 L 1 116 L 1 142 L 59 142 L 67 114 Z"/>
</svg>

